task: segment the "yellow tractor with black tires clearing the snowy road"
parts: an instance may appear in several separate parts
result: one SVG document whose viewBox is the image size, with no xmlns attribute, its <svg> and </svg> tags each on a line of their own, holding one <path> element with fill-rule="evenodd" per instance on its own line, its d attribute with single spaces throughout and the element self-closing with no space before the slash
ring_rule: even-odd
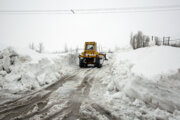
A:
<svg viewBox="0 0 180 120">
<path fill-rule="evenodd" d="M 97 52 L 96 42 L 85 42 L 84 52 L 79 55 L 79 66 L 87 67 L 88 64 L 102 67 L 102 60 L 106 60 L 106 54 Z"/>
</svg>

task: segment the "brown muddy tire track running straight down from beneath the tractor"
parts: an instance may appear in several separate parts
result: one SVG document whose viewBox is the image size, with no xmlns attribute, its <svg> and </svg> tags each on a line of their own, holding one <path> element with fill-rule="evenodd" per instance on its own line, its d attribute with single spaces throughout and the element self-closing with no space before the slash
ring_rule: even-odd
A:
<svg viewBox="0 0 180 120">
<path fill-rule="evenodd" d="M 85 71 L 87 72 L 87 71 Z M 65 114 L 62 118 L 62 120 L 76 120 L 80 118 L 80 106 L 83 102 L 83 100 L 88 97 L 91 84 L 94 80 L 94 77 L 90 77 L 89 73 L 86 75 L 83 80 L 81 81 L 80 85 L 77 87 L 77 89 L 71 93 L 71 95 L 68 98 L 68 106 L 65 107 L 64 109 L 57 111 L 51 116 L 48 116 L 45 118 L 45 120 L 50 120 L 53 118 L 56 118 L 58 116 Z"/>
</svg>

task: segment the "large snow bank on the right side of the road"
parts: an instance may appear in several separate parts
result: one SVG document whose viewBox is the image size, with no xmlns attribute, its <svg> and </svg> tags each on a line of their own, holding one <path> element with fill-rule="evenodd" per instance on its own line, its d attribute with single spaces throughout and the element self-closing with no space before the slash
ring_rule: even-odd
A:
<svg viewBox="0 0 180 120">
<path fill-rule="evenodd" d="M 154 46 L 117 52 L 111 61 L 108 91 L 169 112 L 180 110 L 180 49 Z"/>
</svg>

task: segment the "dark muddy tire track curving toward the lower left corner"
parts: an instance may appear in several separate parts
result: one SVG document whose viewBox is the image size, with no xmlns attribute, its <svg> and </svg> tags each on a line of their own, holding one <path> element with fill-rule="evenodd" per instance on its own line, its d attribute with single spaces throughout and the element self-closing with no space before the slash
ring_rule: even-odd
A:
<svg viewBox="0 0 180 120">
<path fill-rule="evenodd" d="M 51 95 L 51 93 L 53 93 L 55 90 L 61 87 L 65 82 L 75 79 L 75 76 L 75 74 L 71 76 L 66 75 L 54 84 L 51 84 L 50 86 L 38 91 L 37 93 L 35 92 L 35 94 L 37 95 L 34 95 L 33 97 L 28 96 L 18 99 L 15 102 L 10 102 L 10 104 L 4 104 L 4 109 L 2 107 L 0 111 L 0 119 L 9 120 L 11 118 L 15 118 L 22 115 L 26 116 L 27 113 L 38 104 L 40 109 L 43 109 L 45 105 L 48 103 L 48 97 Z M 41 95 L 43 91 L 48 92 L 44 95 Z"/>
</svg>

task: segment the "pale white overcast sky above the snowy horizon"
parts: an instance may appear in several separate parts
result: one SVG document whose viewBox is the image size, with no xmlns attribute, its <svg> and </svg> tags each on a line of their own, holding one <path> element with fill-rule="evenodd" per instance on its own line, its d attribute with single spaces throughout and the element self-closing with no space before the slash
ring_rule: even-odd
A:
<svg viewBox="0 0 180 120">
<path fill-rule="evenodd" d="M 0 0 L 0 10 L 63 10 L 180 5 L 180 0 Z M 0 44 L 17 47 L 43 42 L 46 50 L 83 48 L 96 41 L 104 48 L 124 46 L 130 33 L 180 38 L 180 10 L 108 14 L 0 13 Z"/>
</svg>

